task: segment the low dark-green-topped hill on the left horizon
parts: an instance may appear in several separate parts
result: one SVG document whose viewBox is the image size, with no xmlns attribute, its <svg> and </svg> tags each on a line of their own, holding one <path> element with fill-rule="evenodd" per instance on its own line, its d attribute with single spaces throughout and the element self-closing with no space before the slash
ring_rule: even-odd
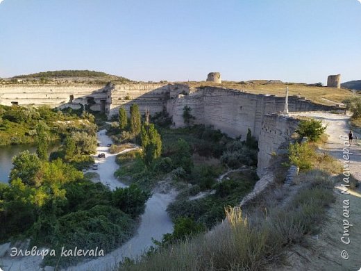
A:
<svg viewBox="0 0 361 271">
<path fill-rule="evenodd" d="M 62 70 L 62 71 L 48 71 L 48 72 L 37 72 L 35 74 L 24 74 L 12 77 L 13 79 L 61 79 L 61 78 L 102 78 L 102 79 L 116 79 L 121 81 L 130 81 L 122 76 L 115 76 L 106 74 L 105 72 L 95 72 L 85 70 Z"/>
</svg>

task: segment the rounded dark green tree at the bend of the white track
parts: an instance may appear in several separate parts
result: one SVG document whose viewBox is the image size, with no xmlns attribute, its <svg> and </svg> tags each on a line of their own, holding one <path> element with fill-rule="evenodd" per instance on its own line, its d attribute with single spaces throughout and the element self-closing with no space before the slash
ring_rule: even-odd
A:
<svg viewBox="0 0 361 271">
<path fill-rule="evenodd" d="M 150 196 L 149 192 L 132 183 L 128 188 L 117 188 L 112 193 L 112 204 L 124 213 L 137 217 L 144 213 L 145 203 Z"/>
</svg>

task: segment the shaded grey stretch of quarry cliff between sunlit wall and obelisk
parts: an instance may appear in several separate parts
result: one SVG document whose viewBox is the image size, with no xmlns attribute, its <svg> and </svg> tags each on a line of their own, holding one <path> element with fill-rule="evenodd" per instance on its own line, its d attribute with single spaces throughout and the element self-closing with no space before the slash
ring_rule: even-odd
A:
<svg viewBox="0 0 361 271">
<path fill-rule="evenodd" d="M 179 95 L 167 102 L 175 127 L 184 126 L 183 108 L 189 106 L 197 124 L 212 125 L 233 138 L 246 138 L 248 129 L 260 137 L 264 116 L 282 112 L 285 98 L 273 95 L 253 95 L 239 90 L 217 87 L 199 88 L 189 95 Z M 330 110 L 328 106 L 289 97 L 289 112 Z"/>
</svg>

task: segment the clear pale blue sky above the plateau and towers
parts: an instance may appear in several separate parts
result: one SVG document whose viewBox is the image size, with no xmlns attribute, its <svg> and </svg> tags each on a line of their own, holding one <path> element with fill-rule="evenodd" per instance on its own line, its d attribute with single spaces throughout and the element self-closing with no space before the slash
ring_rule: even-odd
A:
<svg viewBox="0 0 361 271">
<path fill-rule="evenodd" d="M 358 0 L 0 0 L 0 77 L 361 79 Z"/>
</svg>

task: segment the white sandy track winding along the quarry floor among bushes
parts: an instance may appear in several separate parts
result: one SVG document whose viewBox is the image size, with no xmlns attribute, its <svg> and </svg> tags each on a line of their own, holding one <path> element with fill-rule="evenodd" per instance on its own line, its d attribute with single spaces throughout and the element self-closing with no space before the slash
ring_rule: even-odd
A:
<svg viewBox="0 0 361 271">
<path fill-rule="evenodd" d="M 96 151 L 96 163 L 99 163 L 99 169 L 94 171 L 100 176 L 101 183 L 108 186 L 111 190 L 115 188 L 124 188 L 126 184 L 121 183 L 115 176 L 114 172 L 118 165 L 115 163 L 117 154 L 110 154 L 109 148 L 106 145 L 111 144 L 112 140 L 106 136 L 106 130 L 101 130 L 97 133 L 100 146 Z M 137 147 L 133 148 L 136 149 Z M 126 149 L 131 151 L 132 149 Z M 97 155 L 100 153 L 106 154 L 105 159 L 98 159 Z M 135 236 L 128 240 L 124 245 L 115 249 L 110 254 L 95 258 L 94 260 L 79 263 L 76 266 L 67 268 L 67 271 L 109 271 L 113 270 L 124 257 L 136 258 L 142 252 L 145 252 L 151 245 L 153 245 L 152 238 L 161 240 L 163 234 L 171 233 L 173 231 L 173 222 L 167 214 L 167 206 L 174 201 L 176 197 L 175 192 L 167 194 L 160 192 L 153 192 L 152 197 L 146 202 L 144 214 L 140 217 L 140 226 L 137 229 Z M 79 249 L 81 249 L 79 247 Z M 95 248 L 94 248 L 95 249 Z M 100 248 L 99 248 L 100 249 Z M 1 252 L 1 246 L 0 246 Z M 26 256 L 12 258 L 6 256 L 0 258 L 0 267 L 3 271 L 36 271 L 42 270 L 40 263 L 42 258 L 40 256 Z"/>
</svg>

